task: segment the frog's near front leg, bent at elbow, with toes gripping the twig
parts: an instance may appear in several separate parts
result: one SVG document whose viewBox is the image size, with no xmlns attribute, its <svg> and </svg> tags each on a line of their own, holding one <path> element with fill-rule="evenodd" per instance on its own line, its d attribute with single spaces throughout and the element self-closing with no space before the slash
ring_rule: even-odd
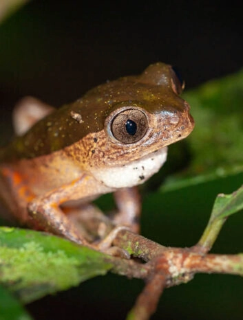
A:
<svg viewBox="0 0 243 320">
<path fill-rule="evenodd" d="M 83 196 L 90 196 L 89 192 L 91 194 L 94 192 L 94 183 L 96 183 L 97 187 L 96 181 L 84 175 L 81 179 L 72 181 L 69 185 L 63 185 L 61 188 L 45 194 L 45 196 L 36 197 L 28 203 L 29 215 L 45 231 L 63 236 L 73 242 L 84 244 L 93 249 L 128 258 L 129 255 L 124 253 L 123 250 L 120 252 L 120 249 L 115 248 L 114 251 L 109 251 L 114 238 L 116 238 L 116 234 L 121 229 L 126 229 L 125 227 L 119 226 L 114 228 L 101 242 L 90 244 L 81 236 L 72 220 L 60 208 L 60 205 L 63 203 L 68 204 L 69 201 L 78 200 L 81 194 Z"/>
</svg>

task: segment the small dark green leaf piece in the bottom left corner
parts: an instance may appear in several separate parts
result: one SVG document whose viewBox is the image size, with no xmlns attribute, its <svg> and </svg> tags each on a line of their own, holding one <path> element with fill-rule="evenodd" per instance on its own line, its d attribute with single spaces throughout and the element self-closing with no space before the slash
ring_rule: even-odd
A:
<svg viewBox="0 0 243 320">
<path fill-rule="evenodd" d="M 0 286 L 0 320 L 31 320 L 17 299 Z"/>
</svg>

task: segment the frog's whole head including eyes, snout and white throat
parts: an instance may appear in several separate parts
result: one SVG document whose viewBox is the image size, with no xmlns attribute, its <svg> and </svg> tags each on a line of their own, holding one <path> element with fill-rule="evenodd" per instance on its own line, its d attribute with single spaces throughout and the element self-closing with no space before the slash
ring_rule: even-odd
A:
<svg viewBox="0 0 243 320">
<path fill-rule="evenodd" d="M 92 174 L 109 186 L 142 183 L 165 162 L 167 146 L 193 130 L 189 104 L 180 98 L 184 84 L 170 65 L 159 62 L 140 76 L 103 86 L 98 91 L 108 107 L 103 130 L 91 136 Z"/>
</svg>

